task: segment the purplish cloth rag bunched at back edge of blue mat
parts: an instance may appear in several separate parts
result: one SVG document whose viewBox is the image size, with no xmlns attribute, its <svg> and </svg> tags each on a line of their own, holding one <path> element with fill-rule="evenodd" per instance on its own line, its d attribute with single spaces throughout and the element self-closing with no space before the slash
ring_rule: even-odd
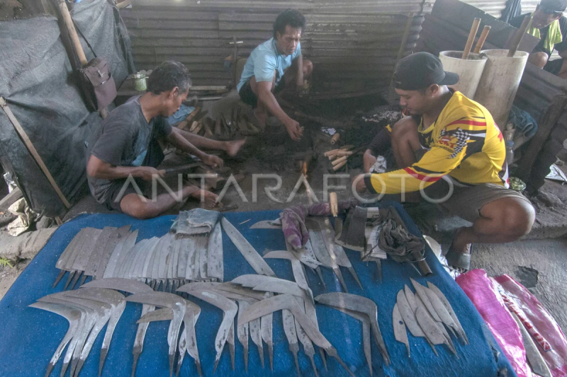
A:
<svg viewBox="0 0 567 377">
<path fill-rule="evenodd" d="M 339 211 L 356 207 L 357 199 L 349 199 L 339 202 Z M 281 229 L 283 236 L 291 245 L 293 250 L 301 249 L 309 240 L 309 231 L 305 226 L 307 216 L 329 216 L 331 207 L 329 203 L 312 204 L 310 206 L 299 205 L 286 208 L 281 212 Z"/>
</svg>

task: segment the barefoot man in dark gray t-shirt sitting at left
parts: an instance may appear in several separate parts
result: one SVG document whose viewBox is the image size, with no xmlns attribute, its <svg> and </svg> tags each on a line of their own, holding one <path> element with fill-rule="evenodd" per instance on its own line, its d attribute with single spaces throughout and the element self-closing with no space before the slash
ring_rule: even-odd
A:
<svg viewBox="0 0 567 377">
<path fill-rule="evenodd" d="M 143 181 L 152 182 L 165 174 L 165 170 L 157 170 L 164 158 L 158 140 L 201 158 L 213 168 L 222 168 L 223 160 L 201 149 L 235 156 L 245 142 L 215 141 L 170 126 L 167 117 L 179 110 L 189 86 L 189 71 L 183 64 L 164 62 L 152 71 L 145 94 L 130 98 L 104 120 L 87 149 L 87 179 L 97 202 L 137 219 L 158 216 L 187 197 L 204 198 L 208 207 L 215 206 L 217 195 L 193 185 L 176 193 L 181 197 L 166 193 L 152 200 L 140 195 Z"/>
</svg>

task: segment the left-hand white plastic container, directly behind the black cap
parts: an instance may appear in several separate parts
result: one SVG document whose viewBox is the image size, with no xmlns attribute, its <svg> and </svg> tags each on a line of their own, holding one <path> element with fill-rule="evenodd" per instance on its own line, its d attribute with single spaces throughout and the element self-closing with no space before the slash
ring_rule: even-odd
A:
<svg viewBox="0 0 567 377">
<path fill-rule="evenodd" d="M 456 91 L 463 93 L 467 98 L 474 98 L 478 82 L 481 81 L 486 57 L 481 54 L 468 55 L 468 59 L 463 60 L 462 51 L 442 51 L 439 52 L 439 59 L 443 64 L 443 69 L 447 72 L 453 72 L 459 75 L 459 82 L 455 85 L 449 85 Z"/>
</svg>

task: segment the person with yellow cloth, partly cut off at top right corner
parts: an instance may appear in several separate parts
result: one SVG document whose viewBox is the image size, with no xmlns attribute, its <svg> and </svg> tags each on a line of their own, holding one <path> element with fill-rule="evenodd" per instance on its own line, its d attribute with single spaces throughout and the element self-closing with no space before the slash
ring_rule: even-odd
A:
<svg viewBox="0 0 567 377">
<path fill-rule="evenodd" d="M 539 43 L 529 54 L 528 62 L 560 76 L 567 78 L 567 18 L 563 11 L 567 8 L 567 0 L 542 0 L 532 13 L 532 23 L 527 29 L 529 35 L 539 38 Z M 522 14 L 510 20 L 510 25 L 520 28 L 524 17 Z M 552 59 L 551 52 L 556 50 L 561 59 Z"/>
</svg>

